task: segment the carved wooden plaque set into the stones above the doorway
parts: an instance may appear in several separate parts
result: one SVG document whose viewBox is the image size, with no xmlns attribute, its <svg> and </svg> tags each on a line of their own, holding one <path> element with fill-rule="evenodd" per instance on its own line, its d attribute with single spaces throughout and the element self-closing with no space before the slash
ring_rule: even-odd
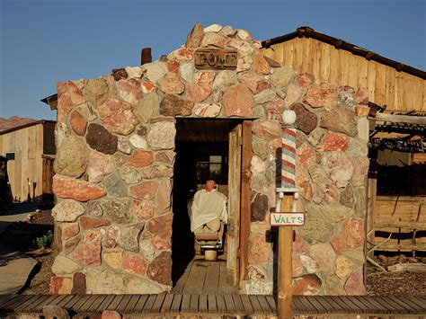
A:
<svg viewBox="0 0 426 319">
<path fill-rule="evenodd" d="M 198 69 L 235 70 L 238 54 L 234 49 L 198 49 L 194 64 Z"/>
</svg>

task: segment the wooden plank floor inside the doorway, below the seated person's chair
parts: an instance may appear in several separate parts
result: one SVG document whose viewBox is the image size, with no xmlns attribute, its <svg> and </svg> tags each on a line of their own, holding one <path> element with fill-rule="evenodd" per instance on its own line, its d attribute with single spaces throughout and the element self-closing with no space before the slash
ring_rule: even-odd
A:
<svg viewBox="0 0 426 319">
<path fill-rule="evenodd" d="M 205 261 L 196 256 L 174 285 L 180 294 L 237 294 L 237 288 L 226 282 L 226 260 Z"/>
</svg>

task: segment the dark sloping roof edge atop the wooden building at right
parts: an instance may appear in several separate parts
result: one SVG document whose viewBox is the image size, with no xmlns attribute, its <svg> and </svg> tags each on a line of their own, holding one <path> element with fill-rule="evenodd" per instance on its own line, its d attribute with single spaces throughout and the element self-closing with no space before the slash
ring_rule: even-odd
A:
<svg viewBox="0 0 426 319">
<path fill-rule="evenodd" d="M 281 35 L 280 37 L 264 40 L 262 41 L 262 48 L 268 49 L 273 44 L 293 40 L 295 38 L 312 38 L 315 40 L 323 41 L 324 43 L 332 45 L 336 49 L 345 49 L 357 56 L 364 57 L 368 60 L 376 61 L 386 66 L 394 67 L 398 72 L 404 71 L 410 75 L 421 77 L 423 80 L 426 79 L 425 71 L 422 71 L 413 66 L 404 65 L 403 63 L 397 62 L 390 58 L 385 58 L 371 50 L 359 48 L 358 46 L 351 44 L 345 40 L 337 39 L 327 34 L 317 32 L 307 26 L 299 27 L 296 31 Z"/>
</svg>

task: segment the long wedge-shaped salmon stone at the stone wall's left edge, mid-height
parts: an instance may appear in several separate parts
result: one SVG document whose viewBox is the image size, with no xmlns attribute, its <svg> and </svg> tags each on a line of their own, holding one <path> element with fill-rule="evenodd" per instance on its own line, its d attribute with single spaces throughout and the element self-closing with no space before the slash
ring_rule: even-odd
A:
<svg viewBox="0 0 426 319">
<path fill-rule="evenodd" d="M 77 181 L 72 178 L 55 175 L 53 177 L 53 192 L 61 199 L 75 199 L 87 201 L 100 199 L 106 195 L 106 191 L 99 186 L 87 182 Z"/>
</svg>

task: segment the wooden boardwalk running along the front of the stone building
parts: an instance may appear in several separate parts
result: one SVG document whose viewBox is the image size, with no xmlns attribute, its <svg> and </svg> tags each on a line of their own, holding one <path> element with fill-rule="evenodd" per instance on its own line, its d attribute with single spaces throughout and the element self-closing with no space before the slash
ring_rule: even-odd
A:
<svg viewBox="0 0 426 319">
<path fill-rule="evenodd" d="M 76 315 L 99 314 L 115 310 L 121 315 L 146 317 L 173 315 L 276 315 L 272 296 L 237 294 L 159 295 L 3 295 L 0 317 L 13 314 L 40 314 L 44 306 L 60 306 Z M 294 315 L 327 316 L 412 316 L 426 315 L 426 296 L 297 296 L 293 299 Z"/>
</svg>

